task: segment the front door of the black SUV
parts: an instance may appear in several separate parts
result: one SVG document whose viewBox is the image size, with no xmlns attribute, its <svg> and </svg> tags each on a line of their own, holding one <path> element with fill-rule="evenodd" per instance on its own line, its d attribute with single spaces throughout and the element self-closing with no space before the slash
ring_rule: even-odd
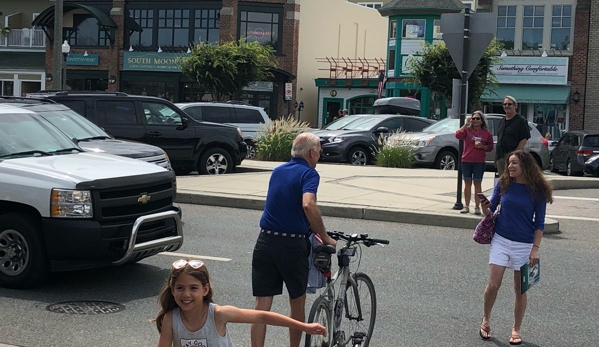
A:
<svg viewBox="0 0 599 347">
<path fill-rule="evenodd" d="M 143 100 L 139 101 L 139 106 L 145 125 L 143 142 L 162 148 L 173 166 L 193 163 L 199 141 L 193 121 L 178 109 L 160 101 Z"/>
</svg>

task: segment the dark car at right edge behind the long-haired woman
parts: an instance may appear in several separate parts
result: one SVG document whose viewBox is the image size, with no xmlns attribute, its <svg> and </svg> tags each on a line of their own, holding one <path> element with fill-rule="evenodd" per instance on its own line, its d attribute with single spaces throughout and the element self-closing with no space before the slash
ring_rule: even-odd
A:
<svg viewBox="0 0 599 347">
<path fill-rule="evenodd" d="M 599 153 L 599 131 L 573 130 L 562 135 L 549 159 L 549 170 L 582 175 L 585 162 Z"/>
</svg>

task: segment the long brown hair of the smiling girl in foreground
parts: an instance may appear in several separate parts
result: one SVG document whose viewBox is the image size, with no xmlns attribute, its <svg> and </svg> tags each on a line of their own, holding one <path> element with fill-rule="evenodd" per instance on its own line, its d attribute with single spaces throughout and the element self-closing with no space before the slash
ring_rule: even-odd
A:
<svg viewBox="0 0 599 347">
<path fill-rule="evenodd" d="M 169 311 L 177 307 L 177 303 L 175 302 L 175 298 L 173 297 L 171 289 L 175 286 L 177 278 L 179 278 L 179 276 L 182 273 L 186 273 L 190 276 L 197 278 L 203 286 L 205 286 L 206 284 L 210 284 L 210 275 L 208 274 L 208 269 L 206 268 L 206 265 L 202 265 L 202 267 L 200 267 L 197 270 L 189 266 L 189 264 L 186 264 L 184 267 L 180 269 L 172 269 L 171 274 L 168 276 L 168 279 L 162 286 L 162 289 L 160 290 L 160 295 L 158 296 L 158 304 L 160 305 L 160 311 L 158 312 L 156 318 L 151 320 L 156 322 L 156 328 L 158 329 L 159 333 L 162 331 L 162 321 L 164 320 L 164 316 Z M 204 296 L 204 302 L 213 302 L 213 294 L 214 291 L 212 290 L 212 286 L 210 286 L 208 294 Z"/>
</svg>

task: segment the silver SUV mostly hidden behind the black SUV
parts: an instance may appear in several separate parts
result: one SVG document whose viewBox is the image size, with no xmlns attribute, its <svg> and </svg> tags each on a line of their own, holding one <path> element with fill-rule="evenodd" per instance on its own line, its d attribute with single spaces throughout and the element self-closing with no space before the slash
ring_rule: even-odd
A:
<svg viewBox="0 0 599 347">
<path fill-rule="evenodd" d="M 175 104 L 191 118 L 201 122 L 228 124 L 238 127 L 248 146 L 246 158 L 256 157 L 255 141 L 260 131 L 266 129 L 269 118 L 264 108 L 236 103 L 191 102 Z"/>
</svg>

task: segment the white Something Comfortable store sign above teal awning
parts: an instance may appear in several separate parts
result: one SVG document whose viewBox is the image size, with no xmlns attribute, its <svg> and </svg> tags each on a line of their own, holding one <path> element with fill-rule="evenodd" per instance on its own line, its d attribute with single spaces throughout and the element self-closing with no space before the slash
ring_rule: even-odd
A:
<svg viewBox="0 0 599 347">
<path fill-rule="evenodd" d="M 491 65 L 500 84 L 568 84 L 568 58 L 504 57 L 501 60 Z"/>
</svg>

